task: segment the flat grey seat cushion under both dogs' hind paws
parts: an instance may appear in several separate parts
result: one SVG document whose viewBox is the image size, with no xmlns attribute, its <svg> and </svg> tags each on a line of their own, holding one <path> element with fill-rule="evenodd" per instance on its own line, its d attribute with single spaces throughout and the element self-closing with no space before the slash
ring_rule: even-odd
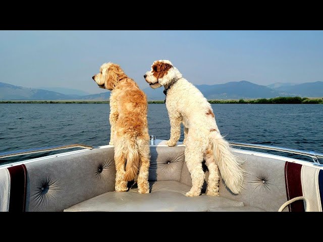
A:
<svg viewBox="0 0 323 242">
<path fill-rule="evenodd" d="M 178 181 L 151 182 L 149 194 L 139 194 L 137 189 L 129 192 L 108 192 L 74 205 L 66 212 L 79 211 L 208 211 L 216 207 L 243 206 L 242 202 L 224 197 L 201 195 L 186 197 L 189 186 Z"/>
</svg>

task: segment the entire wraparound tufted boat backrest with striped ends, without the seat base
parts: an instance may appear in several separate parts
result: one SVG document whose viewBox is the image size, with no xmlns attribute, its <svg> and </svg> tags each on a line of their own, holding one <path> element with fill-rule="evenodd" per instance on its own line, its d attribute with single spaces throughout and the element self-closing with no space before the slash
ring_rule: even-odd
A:
<svg viewBox="0 0 323 242">
<path fill-rule="evenodd" d="M 192 185 L 184 161 L 184 146 L 151 146 L 149 181 L 175 180 Z M 311 211 L 322 211 L 323 170 L 251 154 L 244 160 L 245 189 L 232 194 L 220 181 L 220 196 L 265 211 L 278 211 L 294 197 L 307 198 Z M 204 168 L 206 168 L 204 166 Z M 204 189 L 207 182 L 208 172 Z M 58 155 L 0 169 L 0 211 L 63 211 L 115 190 L 114 147 Z M 304 211 L 297 201 L 284 211 Z"/>
</svg>

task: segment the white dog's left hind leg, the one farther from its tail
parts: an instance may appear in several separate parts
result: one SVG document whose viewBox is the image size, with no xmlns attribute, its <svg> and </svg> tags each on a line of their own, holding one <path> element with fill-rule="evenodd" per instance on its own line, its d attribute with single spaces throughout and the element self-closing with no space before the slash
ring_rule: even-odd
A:
<svg viewBox="0 0 323 242">
<path fill-rule="evenodd" d="M 186 196 L 193 197 L 200 195 L 204 183 L 205 174 L 202 168 L 202 162 L 206 144 L 204 140 L 195 140 L 193 142 L 188 139 L 187 141 L 184 153 L 186 165 L 192 178 L 192 188 L 186 193 Z"/>
</svg>

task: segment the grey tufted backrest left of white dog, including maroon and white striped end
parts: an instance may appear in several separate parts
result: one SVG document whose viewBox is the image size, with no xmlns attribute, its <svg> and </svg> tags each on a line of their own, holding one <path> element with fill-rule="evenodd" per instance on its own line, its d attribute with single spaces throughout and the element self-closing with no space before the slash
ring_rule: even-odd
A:
<svg viewBox="0 0 323 242">
<path fill-rule="evenodd" d="M 150 147 L 149 180 L 180 180 L 184 147 Z M 0 169 L 0 211 L 63 211 L 115 190 L 114 147 Z"/>
</svg>

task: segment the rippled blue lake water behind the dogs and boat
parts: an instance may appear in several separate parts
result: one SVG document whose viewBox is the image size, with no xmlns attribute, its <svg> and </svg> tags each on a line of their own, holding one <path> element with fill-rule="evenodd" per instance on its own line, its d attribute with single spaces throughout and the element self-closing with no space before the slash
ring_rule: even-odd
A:
<svg viewBox="0 0 323 242">
<path fill-rule="evenodd" d="M 321 104 L 211 105 L 220 132 L 228 141 L 323 153 Z M 0 104 L 0 152 L 74 143 L 107 145 L 109 112 L 109 104 Z M 148 126 L 149 134 L 156 139 L 169 139 L 170 122 L 165 104 L 148 105 Z M 183 136 L 182 130 L 180 141 Z M 0 164 L 60 152 L 65 150 L 4 158 Z"/>
</svg>

